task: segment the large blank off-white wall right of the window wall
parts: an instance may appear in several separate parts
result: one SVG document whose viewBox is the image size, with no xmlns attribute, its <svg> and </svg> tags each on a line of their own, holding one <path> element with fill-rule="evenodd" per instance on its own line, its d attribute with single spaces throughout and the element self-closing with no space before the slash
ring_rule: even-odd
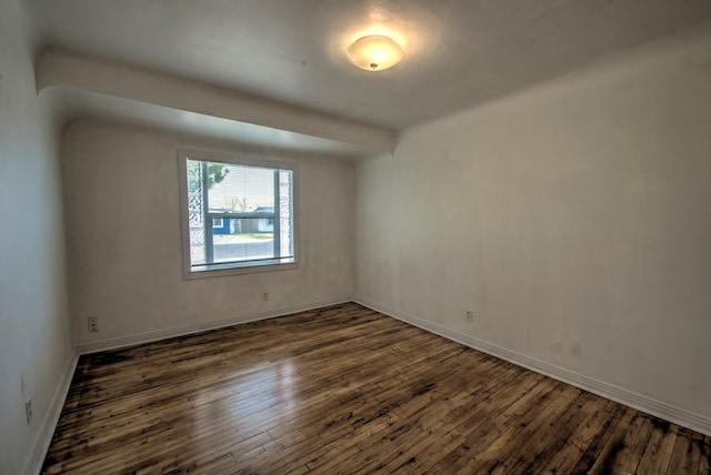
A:
<svg viewBox="0 0 711 475">
<path fill-rule="evenodd" d="M 360 301 L 711 421 L 709 30 L 405 131 L 356 181 Z"/>
</svg>

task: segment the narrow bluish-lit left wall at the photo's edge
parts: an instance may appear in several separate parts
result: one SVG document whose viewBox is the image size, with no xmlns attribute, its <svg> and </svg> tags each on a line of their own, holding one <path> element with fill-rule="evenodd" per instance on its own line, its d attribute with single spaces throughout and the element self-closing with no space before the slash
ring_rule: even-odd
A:
<svg viewBox="0 0 711 475">
<path fill-rule="evenodd" d="M 48 115 L 34 92 L 32 29 L 19 3 L 0 0 L 2 474 L 21 473 L 36 452 L 72 357 L 59 160 Z M 30 425 L 24 417 L 29 396 L 34 411 Z"/>
</svg>

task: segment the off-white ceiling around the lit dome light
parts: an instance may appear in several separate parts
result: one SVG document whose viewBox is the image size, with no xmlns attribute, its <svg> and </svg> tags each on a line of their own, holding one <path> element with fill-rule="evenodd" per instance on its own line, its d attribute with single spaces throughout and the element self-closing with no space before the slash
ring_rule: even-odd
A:
<svg viewBox="0 0 711 475">
<path fill-rule="evenodd" d="M 47 47 L 401 130 L 711 21 L 709 0 L 28 0 Z M 404 47 L 377 73 L 358 33 Z"/>
</svg>

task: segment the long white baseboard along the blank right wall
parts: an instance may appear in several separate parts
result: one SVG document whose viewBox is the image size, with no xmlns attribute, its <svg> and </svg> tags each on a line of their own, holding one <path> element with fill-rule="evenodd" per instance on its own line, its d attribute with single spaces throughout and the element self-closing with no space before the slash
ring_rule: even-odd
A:
<svg viewBox="0 0 711 475">
<path fill-rule="evenodd" d="M 410 315 L 408 313 L 400 312 L 398 310 L 390 309 L 388 306 L 380 305 L 364 299 L 353 299 L 353 302 L 377 312 L 383 313 L 388 316 L 401 320 L 411 325 L 418 326 L 428 332 L 438 334 L 448 340 L 452 340 L 457 343 L 461 343 L 465 346 L 479 350 L 498 358 L 505 360 L 509 363 L 513 363 L 518 366 L 523 366 L 537 373 L 544 374 L 545 376 L 550 376 L 563 383 L 571 384 L 575 387 L 580 387 L 581 390 L 589 391 L 599 396 L 612 400 L 620 404 L 624 404 L 625 406 L 642 411 L 671 423 L 679 424 L 692 431 L 697 431 L 705 435 L 711 435 L 711 417 L 709 416 L 685 410 L 683 407 L 679 407 L 663 401 L 655 400 L 650 396 L 645 396 L 643 394 L 632 392 L 614 384 L 605 383 L 604 381 L 599 381 L 593 377 L 545 363 L 531 356 L 527 356 L 522 353 L 504 348 L 502 346 L 475 338 L 470 335 L 465 335 L 455 330 L 448 329 L 437 323 L 428 322 L 427 320 L 420 319 L 418 316 Z"/>
</svg>

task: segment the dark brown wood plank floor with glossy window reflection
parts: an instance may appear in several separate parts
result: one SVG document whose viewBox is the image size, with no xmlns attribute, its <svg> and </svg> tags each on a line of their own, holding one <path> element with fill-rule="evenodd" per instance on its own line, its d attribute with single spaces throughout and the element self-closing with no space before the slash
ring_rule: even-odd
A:
<svg viewBox="0 0 711 475">
<path fill-rule="evenodd" d="M 82 356 L 43 473 L 710 466 L 711 437 L 344 304 Z"/>
</svg>

